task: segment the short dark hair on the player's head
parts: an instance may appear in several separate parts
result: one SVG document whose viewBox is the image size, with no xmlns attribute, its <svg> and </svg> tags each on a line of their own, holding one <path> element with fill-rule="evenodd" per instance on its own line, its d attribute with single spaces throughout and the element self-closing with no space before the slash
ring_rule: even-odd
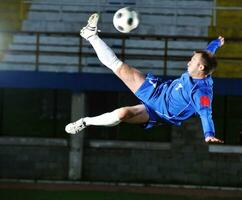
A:
<svg viewBox="0 0 242 200">
<path fill-rule="evenodd" d="M 215 55 L 205 50 L 198 50 L 195 51 L 195 53 L 201 54 L 201 61 L 204 65 L 204 73 L 206 75 L 213 73 L 217 67 L 217 59 Z"/>
</svg>

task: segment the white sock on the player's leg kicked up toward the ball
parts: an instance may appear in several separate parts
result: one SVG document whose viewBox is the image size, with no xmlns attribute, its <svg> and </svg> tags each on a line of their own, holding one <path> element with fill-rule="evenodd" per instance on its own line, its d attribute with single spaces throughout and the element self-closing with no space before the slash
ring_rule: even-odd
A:
<svg viewBox="0 0 242 200">
<path fill-rule="evenodd" d="M 98 35 L 90 37 L 89 42 L 93 46 L 99 60 L 112 71 L 116 71 L 123 64 L 113 50 Z"/>
</svg>

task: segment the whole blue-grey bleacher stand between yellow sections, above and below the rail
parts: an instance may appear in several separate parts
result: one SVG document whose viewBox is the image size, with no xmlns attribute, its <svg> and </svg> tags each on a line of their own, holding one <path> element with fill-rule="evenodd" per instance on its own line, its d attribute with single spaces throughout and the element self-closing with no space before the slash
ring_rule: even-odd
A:
<svg viewBox="0 0 242 200">
<path fill-rule="evenodd" d="M 22 24 L 23 32 L 14 34 L 9 51 L 0 63 L 1 70 L 108 73 L 109 70 L 101 67 L 92 47 L 80 38 L 79 29 L 91 13 L 98 11 L 102 33 L 121 35 L 112 25 L 112 16 L 117 9 L 132 6 L 140 13 L 141 21 L 132 34 L 141 37 L 125 38 L 125 58 L 122 59 L 143 72 L 152 70 L 162 75 L 166 65 L 168 75 L 178 75 L 185 69 L 187 60 L 171 59 L 164 64 L 164 56 L 187 57 L 195 49 L 204 48 L 207 42 L 169 39 L 165 44 L 164 38 L 142 36 L 207 36 L 212 14 L 212 1 L 208 0 L 153 0 L 149 5 L 143 0 L 38 0 L 26 3 L 30 8 Z M 107 37 L 105 41 L 118 55 L 122 53 L 122 38 Z"/>
</svg>

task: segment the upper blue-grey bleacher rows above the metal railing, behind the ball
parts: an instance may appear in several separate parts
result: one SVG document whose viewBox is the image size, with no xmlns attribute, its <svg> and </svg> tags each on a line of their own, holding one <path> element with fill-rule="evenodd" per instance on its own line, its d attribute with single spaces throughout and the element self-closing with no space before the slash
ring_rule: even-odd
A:
<svg viewBox="0 0 242 200">
<path fill-rule="evenodd" d="M 38 1 L 30 6 L 23 30 L 45 32 L 78 32 L 93 12 L 101 13 L 103 32 L 116 32 L 112 17 L 117 9 L 132 6 L 141 22 L 134 33 L 158 35 L 206 36 L 211 23 L 212 1 L 132 1 L 113 4 L 113 1 Z"/>
</svg>

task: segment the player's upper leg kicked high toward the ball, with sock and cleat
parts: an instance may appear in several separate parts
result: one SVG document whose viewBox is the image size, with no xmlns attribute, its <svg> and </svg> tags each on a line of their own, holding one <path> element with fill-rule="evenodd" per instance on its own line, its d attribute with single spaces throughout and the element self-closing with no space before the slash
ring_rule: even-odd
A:
<svg viewBox="0 0 242 200">
<path fill-rule="evenodd" d="M 139 70 L 120 61 L 112 49 L 99 38 L 97 35 L 98 19 L 97 13 L 91 15 L 87 25 L 81 29 L 80 35 L 91 43 L 99 60 L 135 93 L 143 84 L 145 77 Z"/>
</svg>

